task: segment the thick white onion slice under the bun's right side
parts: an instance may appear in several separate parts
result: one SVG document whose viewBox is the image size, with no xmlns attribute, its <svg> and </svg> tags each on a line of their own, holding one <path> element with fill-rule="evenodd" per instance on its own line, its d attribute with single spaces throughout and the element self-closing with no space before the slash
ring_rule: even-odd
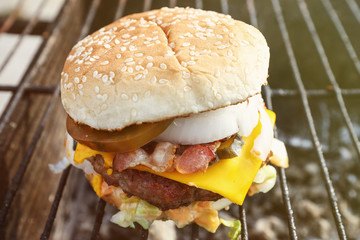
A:
<svg viewBox="0 0 360 240">
<path fill-rule="evenodd" d="M 156 140 L 194 145 L 235 133 L 248 136 L 258 123 L 258 109 L 263 108 L 262 103 L 261 96 L 257 95 L 237 105 L 177 118 Z"/>
</svg>

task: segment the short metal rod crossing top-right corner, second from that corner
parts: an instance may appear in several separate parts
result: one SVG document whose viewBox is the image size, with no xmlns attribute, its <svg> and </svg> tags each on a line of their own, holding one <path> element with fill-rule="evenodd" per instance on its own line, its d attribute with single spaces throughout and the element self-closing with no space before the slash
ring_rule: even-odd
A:
<svg viewBox="0 0 360 240">
<path fill-rule="evenodd" d="M 331 5 L 331 2 L 329 0 L 322 0 L 321 2 L 323 3 L 324 7 L 326 8 L 327 13 L 329 14 L 332 22 L 334 23 L 334 25 L 336 27 L 336 30 L 338 31 L 342 41 L 344 42 L 345 48 L 346 48 L 347 52 L 349 53 L 350 58 L 353 61 L 357 72 L 360 74 L 359 58 L 356 54 L 356 51 L 355 51 L 353 45 L 351 44 L 351 41 L 345 31 L 344 26 L 341 24 L 339 16 L 336 14 L 336 11 L 333 8 L 333 6 Z"/>
</svg>

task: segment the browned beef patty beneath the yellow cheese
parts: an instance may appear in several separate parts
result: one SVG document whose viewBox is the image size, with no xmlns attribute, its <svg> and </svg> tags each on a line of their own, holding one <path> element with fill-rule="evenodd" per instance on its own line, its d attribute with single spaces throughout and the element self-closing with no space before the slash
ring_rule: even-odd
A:
<svg viewBox="0 0 360 240">
<path fill-rule="evenodd" d="M 107 184 L 119 186 L 126 194 L 138 196 L 163 211 L 187 206 L 195 201 L 215 201 L 221 198 L 217 193 L 135 169 L 113 171 L 109 175 L 101 155 L 87 160 L 92 163 L 94 170 L 104 178 Z"/>
</svg>

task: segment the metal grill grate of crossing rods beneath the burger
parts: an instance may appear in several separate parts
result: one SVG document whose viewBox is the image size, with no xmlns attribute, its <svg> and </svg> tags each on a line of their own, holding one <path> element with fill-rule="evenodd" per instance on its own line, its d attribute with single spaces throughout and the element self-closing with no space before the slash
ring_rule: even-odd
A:
<svg viewBox="0 0 360 240">
<path fill-rule="evenodd" d="M 345 104 L 344 97 L 352 96 L 356 98 L 360 98 L 360 88 L 353 88 L 353 89 L 342 89 L 340 88 L 338 84 L 338 80 L 335 77 L 335 74 L 332 70 L 331 64 L 329 63 L 329 59 L 327 57 L 325 48 L 321 42 L 319 33 L 315 27 L 314 20 L 312 19 L 310 15 L 310 11 L 308 9 L 308 5 L 304 0 L 294 0 L 296 1 L 301 16 L 303 18 L 303 21 L 308 29 L 308 32 L 310 33 L 311 39 L 313 41 L 313 44 L 316 47 L 316 51 L 318 56 L 320 57 L 322 67 L 325 69 L 327 79 L 330 83 L 330 88 L 328 90 L 322 90 L 322 89 L 306 89 L 303 77 L 301 75 L 301 71 L 299 68 L 299 63 L 296 60 L 295 53 L 294 53 L 294 47 L 291 41 L 290 34 L 288 32 L 288 26 L 287 22 L 285 21 L 284 15 L 283 15 L 283 9 L 281 7 L 281 3 L 279 0 L 272 0 L 272 10 L 276 17 L 276 21 L 278 24 L 278 27 L 280 29 L 281 33 L 281 39 L 285 46 L 285 51 L 287 54 L 288 61 L 290 63 L 291 71 L 293 74 L 293 77 L 295 79 L 296 87 L 297 89 L 281 89 L 276 88 L 272 89 L 270 86 L 266 86 L 264 88 L 265 93 L 265 100 L 267 103 L 267 106 L 269 109 L 273 108 L 272 100 L 274 98 L 290 98 L 290 97 L 300 97 L 302 106 L 304 108 L 305 117 L 307 120 L 307 124 L 309 126 L 310 134 L 311 134 L 311 140 L 314 149 L 317 153 L 317 158 L 320 165 L 320 170 L 323 178 L 323 183 L 325 185 L 327 194 L 328 194 L 328 200 L 331 206 L 333 219 L 335 221 L 335 225 L 337 228 L 338 237 L 340 239 L 347 239 L 347 234 L 345 232 L 345 226 L 342 220 L 342 215 L 339 210 L 337 196 L 334 190 L 334 186 L 329 174 L 328 166 L 327 166 L 327 160 L 324 156 L 323 152 L 323 146 L 320 143 L 317 129 L 315 125 L 315 120 L 313 113 L 310 108 L 309 98 L 333 98 L 336 100 L 336 103 L 339 106 L 339 109 L 341 111 L 341 116 L 343 117 L 347 131 L 350 135 L 352 144 L 355 148 L 355 152 L 357 154 L 357 159 L 360 158 L 360 142 L 359 138 L 356 133 L 356 129 L 354 127 L 354 124 L 351 121 L 350 115 L 348 113 L 347 105 Z M 140 2 L 140 1 L 139 1 Z M 155 1 L 154 1 L 155 2 Z M 219 0 L 221 9 L 213 9 L 221 11 L 225 14 L 229 14 L 231 12 L 231 1 L 228 0 Z M 174 7 L 179 2 L 176 0 L 169 0 L 167 6 Z M 335 8 L 333 7 L 333 4 L 330 2 L 330 0 L 322 0 L 321 3 L 323 4 L 324 8 L 326 9 L 326 12 L 328 16 L 331 19 L 331 22 L 333 23 L 334 27 L 336 28 L 336 31 L 338 35 L 340 36 L 347 54 L 352 60 L 352 63 L 354 64 L 354 67 L 357 71 L 357 74 L 360 75 L 360 61 L 356 53 L 356 48 L 351 43 L 351 38 L 347 34 L 344 25 L 341 23 L 341 20 L 339 16 L 336 13 Z M 19 1 L 18 7 L 15 8 L 14 12 L 9 15 L 8 19 L 4 21 L 3 26 L 1 26 L 0 29 L 10 29 L 11 25 L 14 24 L 14 16 L 16 16 L 17 11 L 23 4 L 23 1 Z M 16 52 L 16 49 L 21 44 L 23 37 L 29 35 L 33 29 L 35 28 L 36 24 L 38 23 L 38 15 L 40 12 L 44 9 L 44 6 L 46 4 L 46 1 L 42 1 L 39 5 L 38 9 L 36 10 L 35 15 L 28 21 L 27 26 L 25 29 L 20 33 L 20 38 L 18 39 L 17 43 L 13 47 L 13 49 L 10 51 L 10 53 L 6 56 L 5 61 L 0 66 L 0 74 L 1 72 L 6 68 L 8 63 L 10 62 L 11 58 L 13 57 L 14 53 Z M 51 52 L 54 50 L 56 39 L 59 39 L 61 37 L 61 29 L 64 27 L 65 22 L 67 19 L 71 18 L 70 16 L 70 7 L 74 4 L 74 0 L 66 0 L 64 2 L 63 8 L 60 10 L 57 18 L 53 21 L 52 24 L 50 24 L 46 30 L 46 33 L 48 34 L 48 37 L 45 38 L 43 43 L 41 44 L 38 52 L 33 57 L 31 64 L 29 65 L 26 73 L 23 75 L 20 84 L 18 86 L 11 86 L 11 85 L 0 85 L 0 92 L 12 92 L 13 96 L 10 99 L 10 102 L 8 103 L 5 112 L 1 116 L 0 120 L 0 133 L 1 136 L 4 136 L 4 134 L 7 131 L 7 128 L 9 124 L 11 123 L 11 118 L 16 114 L 16 109 L 21 104 L 21 101 L 23 99 L 26 99 L 29 94 L 44 94 L 50 96 L 50 101 L 46 105 L 45 111 L 43 115 L 40 117 L 40 121 L 38 121 L 38 124 L 36 126 L 32 126 L 35 131 L 33 134 L 33 137 L 31 138 L 30 144 L 25 150 L 24 157 L 22 158 L 21 163 L 19 164 L 19 167 L 16 170 L 16 173 L 14 174 L 11 184 L 7 189 L 7 192 L 4 196 L 4 202 L 1 206 L 0 211 L 0 224 L 1 224 L 1 230 L 2 233 L 6 230 L 6 222 L 8 219 L 8 213 L 11 210 L 11 208 L 14 207 L 14 198 L 16 194 L 18 193 L 19 187 L 24 184 L 22 182 L 23 177 L 25 173 L 28 170 L 28 166 L 30 161 L 32 160 L 33 153 L 36 149 L 36 146 L 39 142 L 39 139 L 42 135 L 42 132 L 44 130 L 44 127 L 46 123 L 49 121 L 49 118 L 53 112 L 53 109 L 59 102 L 59 93 L 60 93 L 60 85 L 57 84 L 56 87 L 54 86 L 46 86 L 44 85 L 33 85 L 31 83 L 31 80 L 33 77 L 38 73 L 43 71 L 42 67 L 44 63 L 49 58 Z M 117 9 L 114 15 L 114 19 L 120 18 L 127 10 L 127 4 L 128 2 L 126 0 L 118 0 L 117 2 Z M 207 7 L 206 1 L 201 0 L 194 0 L 193 3 L 194 7 L 196 8 L 203 8 Z M 347 0 L 346 4 L 351 9 L 354 17 L 357 19 L 358 23 L 360 24 L 360 10 L 358 7 L 358 3 L 355 0 Z M 85 17 L 85 21 L 81 27 L 81 30 L 79 31 L 79 37 L 77 40 L 82 39 L 85 37 L 90 31 L 91 26 L 94 22 L 94 19 L 96 17 L 96 14 L 99 10 L 99 7 L 101 5 L 100 0 L 92 0 L 91 4 L 89 5 L 89 9 L 86 12 L 87 15 Z M 153 1 L 152 0 L 144 0 L 142 3 L 142 10 L 147 11 L 152 8 Z M 248 10 L 250 23 L 254 25 L 255 27 L 260 27 L 261 30 L 261 24 L 259 24 L 259 20 L 257 17 L 257 11 L 256 11 L 256 1 L 254 0 L 246 0 L 244 7 L 246 5 L 246 8 Z M 6 23 L 6 25 L 5 25 Z M 1 34 L 1 33 L 0 33 Z M 0 83 L 1 84 L 1 83 Z M 15 127 L 17 128 L 17 127 Z M 277 135 L 277 133 L 275 133 Z M 3 153 L 6 149 L 6 144 L 3 139 L 1 140 L 1 153 Z M 4 155 L 4 154 L 2 154 Z M 62 199 L 62 193 L 65 189 L 65 185 L 67 182 L 67 179 L 69 177 L 69 174 L 71 172 L 71 167 L 68 167 L 61 175 L 60 181 L 57 186 L 56 194 L 52 202 L 51 210 L 48 213 L 48 218 L 46 220 L 46 224 L 43 226 L 43 233 L 41 235 L 41 239 L 49 239 L 52 227 L 54 225 L 54 220 L 57 214 L 57 210 L 59 207 L 59 204 Z M 280 187 L 282 192 L 282 200 L 284 203 L 284 211 L 286 212 L 287 221 L 288 221 L 288 230 L 289 230 L 289 238 L 290 239 L 298 239 L 298 233 L 297 228 L 295 224 L 295 218 L 294 218 L 294 209 L 291 205 L 291 199 L 290 199 L 290 191 L 291 188 L 289 187 L 288 180 L 286 177 L 285 170 L 283 168 L 279 169 L 279 181 L 280 181 Z M 99 200 L 97 207 L 96 207 L 96 215 L 94 219 L 94 224 L 92 228 L 91 233 L 91 239 L 98 239 L 99 238 L 99 232 L 102 225 L 102 220 L 104 217 L 104 211 L 105 211 L 106 203 L 103 200 Z M 238 214 L 239 218 L 242 223 L 242 233 L 241 238 L 242 239 L 248 239 L 249 233 L 248 233 L 248 226 L 247 226 L 247 217 L 246 217 L 246 207 L 245 206 L 239 206 Z M 140 231 L 140 229 L 139 229 Z M 141 237 L 143 239 L 147 239 L 147 232 L 143 231 L 141 234 Z M 192 226 L 191 228 L 191 238 L 192 239 L 198 239 L 200 237 L 199 229 L 195 226 Z"/>
</svg>

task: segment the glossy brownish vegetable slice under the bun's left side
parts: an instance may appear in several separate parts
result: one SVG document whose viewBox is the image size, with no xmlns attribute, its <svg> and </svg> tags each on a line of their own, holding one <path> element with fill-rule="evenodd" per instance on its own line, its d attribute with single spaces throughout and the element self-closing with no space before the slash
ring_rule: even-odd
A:
<svg viewBox="0 0 360 240">
<path fill-rule="evenodd" d="M 120 131 L 96 130 L 85 124 L 78 124 L 69 116 L 66 129 L 70 136 L 81 144 L 102 152 L 130 152 L 149 143 L 160 135 L 173 120 L 131 125 Z"/>
</svg>

